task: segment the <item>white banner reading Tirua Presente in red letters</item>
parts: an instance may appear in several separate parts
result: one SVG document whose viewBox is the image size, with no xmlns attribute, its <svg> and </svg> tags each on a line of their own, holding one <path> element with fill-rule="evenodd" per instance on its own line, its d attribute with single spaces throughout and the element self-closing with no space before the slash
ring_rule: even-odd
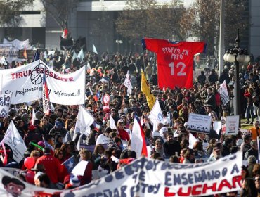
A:
<svg viewBox="0 0 260 197">
<path fill-rule="evenodd" d="M 46 82 L 52 103 L 84 104 L 85 68 L 63 75 L 49 68 L 43 61 L 35 61 L 18 68 L 0 70 L 2 93 L 12 93 L 11 104 L 42 98 L 44 70 L 46 70 Z"/>
</svg>

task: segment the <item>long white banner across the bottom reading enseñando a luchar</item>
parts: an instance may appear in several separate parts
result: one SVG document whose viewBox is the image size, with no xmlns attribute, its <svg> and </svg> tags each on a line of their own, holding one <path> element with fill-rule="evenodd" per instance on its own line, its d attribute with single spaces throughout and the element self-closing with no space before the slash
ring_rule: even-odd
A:
<svg viewBox="0 0 260 197">
<path fill-rule="evenodd" d="M 166 163 L 138 158 L 116 172 L 72 190 L 43 189 L 20 181 L 22 196 L 45 193 L 60 196 L 209 196 L 238 191 L 241 186 L 242 152 L 220 158 L 214 163 Z M 15 179 L 0 169 L 0 192 L 7 191 L 3 179 Z M 5 178 L 4 178 L 5 177 Z M 2 196 L 4 196 L 2 194 Z"/>
</svg>

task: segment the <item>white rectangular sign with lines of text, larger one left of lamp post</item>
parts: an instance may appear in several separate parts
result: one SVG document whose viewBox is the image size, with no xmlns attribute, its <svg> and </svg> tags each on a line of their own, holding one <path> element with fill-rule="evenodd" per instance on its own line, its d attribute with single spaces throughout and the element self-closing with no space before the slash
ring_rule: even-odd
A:
<svg viewBox="0 0 260 197">
<path fill-rule="evenodd" d="M 208 115 L 190 113 L 188 117 L 188 129 L 193 132 L 209 134 L 211 124 L 212 117 Z"/>
</svg>

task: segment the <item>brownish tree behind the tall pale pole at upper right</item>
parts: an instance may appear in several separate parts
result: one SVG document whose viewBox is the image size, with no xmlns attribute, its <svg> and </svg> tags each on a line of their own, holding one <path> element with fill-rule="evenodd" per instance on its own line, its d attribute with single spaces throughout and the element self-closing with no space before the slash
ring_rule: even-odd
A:
<svg viewBox="0 0 260 197">
<path fill-rule="evenodd" d="M 243 32 L 247 27 L 245 4 L 240 0 L 225 1 L 225 43 L 234 43 L 236 29 Z M 195 36 L 207 42 L 207 53 L 214 55 L 214 46 L 219 46 L 220 0 L 196 0 L 190 9 L 195 15 Z M 227 46 L 228 47 L 228 46 Z"/>
</svg>

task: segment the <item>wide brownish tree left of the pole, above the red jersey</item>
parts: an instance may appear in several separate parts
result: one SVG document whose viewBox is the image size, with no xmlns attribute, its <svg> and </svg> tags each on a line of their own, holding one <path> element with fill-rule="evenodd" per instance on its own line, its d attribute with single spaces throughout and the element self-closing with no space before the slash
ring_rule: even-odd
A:
<svg viewBox="0 0 260 197">
<path fill-rule="evenodd" d="M 190 35 L 193 20 L 181 1 L 128 0 L 115 25 L 117 32 L 131 41 L 140 42 L 142 37 L 183 40 Z"/>
</svg>

